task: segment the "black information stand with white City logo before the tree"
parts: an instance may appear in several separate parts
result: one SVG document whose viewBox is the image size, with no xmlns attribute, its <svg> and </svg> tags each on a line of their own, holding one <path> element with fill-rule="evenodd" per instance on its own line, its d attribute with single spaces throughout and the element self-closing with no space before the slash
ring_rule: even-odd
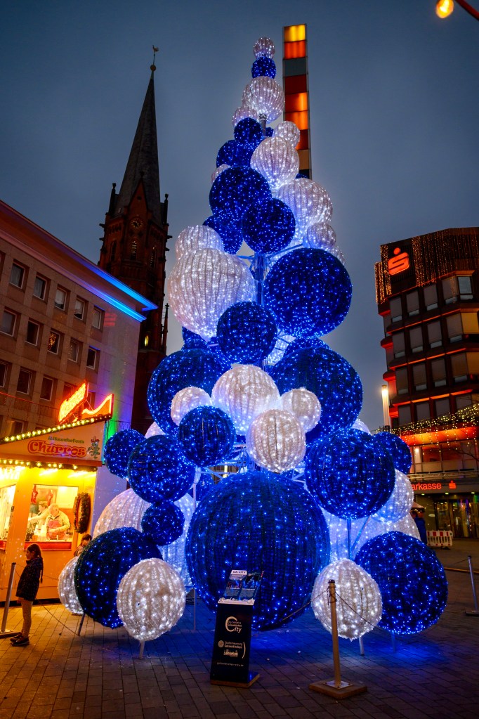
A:
<svg viewBox="0 0 479 719">
<path fill-rule="evenodd" d="M 211 684 L 251 687 L 259 674 L 249 671 L 251 623 L 261 572 L 233 569 L 216 611 Z"/>
</svg>

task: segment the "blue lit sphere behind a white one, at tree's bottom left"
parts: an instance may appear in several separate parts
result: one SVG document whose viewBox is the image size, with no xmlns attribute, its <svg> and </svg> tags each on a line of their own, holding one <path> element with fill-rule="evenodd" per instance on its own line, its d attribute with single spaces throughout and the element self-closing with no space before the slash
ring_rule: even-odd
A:
<svg viewBox="0 0 479 719">
<path fill-rule="evenodd" d="M 162 559 L 158 547 L 132 527 L 111 529 L 92 539 L 75 567 L 75 590 L 85 614 L 104 627 L 120 627 L 118 586 L 134 564 L 152 557 Z"/>
</svg>

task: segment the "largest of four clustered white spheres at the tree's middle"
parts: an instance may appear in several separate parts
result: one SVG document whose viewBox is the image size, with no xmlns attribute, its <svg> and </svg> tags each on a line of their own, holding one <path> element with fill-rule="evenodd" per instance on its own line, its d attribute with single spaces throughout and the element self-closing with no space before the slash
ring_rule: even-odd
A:
<svg viewBox="0 0 479 719">
<path fill-rule="evenodd" d="M 255 365 L 233 365 L 216 382 L 213 405 L 231 416 L 238 434 L 245 434 L 256 416 L 279 403 L 271 377 Z"/>
</svg>

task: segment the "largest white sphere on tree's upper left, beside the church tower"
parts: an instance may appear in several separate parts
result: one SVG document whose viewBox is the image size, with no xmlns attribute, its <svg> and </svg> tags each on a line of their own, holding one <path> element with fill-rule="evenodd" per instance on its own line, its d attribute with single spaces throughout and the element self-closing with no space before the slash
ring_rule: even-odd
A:
<svg viewBox="0 0 479 719">
<path fill-rule="evenodd" d="M 218 319 L 228 307 L 256 297 L 247 265 L 219 249 L 197 249 L 182 255 L 173 266 L 168 290 L 176 319 L 206 340 L 215 336 Z"/>
</svg>

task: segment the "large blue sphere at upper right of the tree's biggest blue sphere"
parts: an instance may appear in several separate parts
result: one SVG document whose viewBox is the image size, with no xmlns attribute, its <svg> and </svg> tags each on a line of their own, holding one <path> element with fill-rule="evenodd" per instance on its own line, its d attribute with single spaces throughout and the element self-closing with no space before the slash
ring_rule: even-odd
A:
<svg viewBox="0 0 479 719">
<path fill-rule="evenodd" d="M 304 477 L 318 503 L 343 519 L 377 512 L 396 480 L 391 454 L 358 429 L 318 439 L 307 453 Z"/>
</svg>

